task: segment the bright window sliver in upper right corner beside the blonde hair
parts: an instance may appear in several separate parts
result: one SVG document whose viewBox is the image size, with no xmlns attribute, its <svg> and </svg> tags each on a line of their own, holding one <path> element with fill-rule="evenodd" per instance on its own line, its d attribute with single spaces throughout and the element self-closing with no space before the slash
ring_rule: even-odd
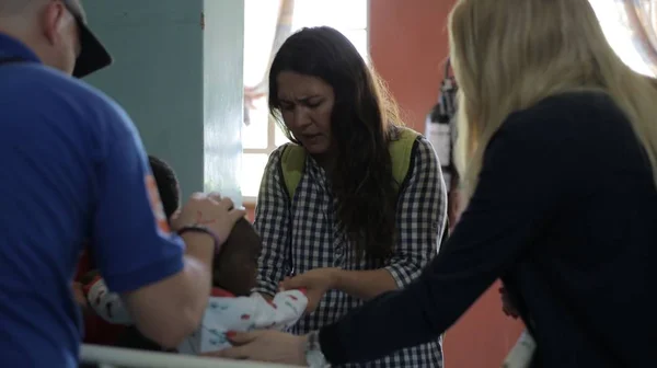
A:
<svg viewBox="0 0 657 368">
<path fill-rule="evenodd" d="M 627 22 L 624 4 L 614 0 L 589 0 L 600 21 L 602 31 L 619 57 L 634 71 L 654 77 L 650 66 L 634 45 L 634 34 Z"/>
</svg>

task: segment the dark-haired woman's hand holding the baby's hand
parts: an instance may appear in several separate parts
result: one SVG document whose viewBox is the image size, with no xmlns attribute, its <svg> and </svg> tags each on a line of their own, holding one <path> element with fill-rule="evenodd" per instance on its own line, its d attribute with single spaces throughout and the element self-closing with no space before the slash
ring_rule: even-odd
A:
<svg viewBox="0 0 657 368">
<path fill-rule="evenodd" d="M 286 277 L 280 283 L 280 289 L 283 291 L 306 289 L 308 297 L 306 312 L 312 313 L 318 309 L 324 294 L 335 288 L 338 272 L 339 268 L 331 267 L 311 269 L 298 276 Z"/>
</svg>

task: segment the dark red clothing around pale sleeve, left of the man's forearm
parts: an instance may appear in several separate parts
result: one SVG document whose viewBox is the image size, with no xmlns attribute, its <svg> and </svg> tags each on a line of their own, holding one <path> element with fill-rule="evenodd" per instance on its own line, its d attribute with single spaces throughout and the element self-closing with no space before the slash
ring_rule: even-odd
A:
<svg viewBox="0 0 657 368">
<path fill-rule="evenodd" d="M 84 250 L 78 263 L 76 281 L 80 281 L 92 269 L 94 269 L 93 261 L 89 251 Z M 82 287 L 84 288 L 84 285 Z M 115 345 L 126 330 L 125 325 L 108 323 L 91 310 L 83 311 L 82 320 L 84 322 L 84 344 Z"/>
</svg>

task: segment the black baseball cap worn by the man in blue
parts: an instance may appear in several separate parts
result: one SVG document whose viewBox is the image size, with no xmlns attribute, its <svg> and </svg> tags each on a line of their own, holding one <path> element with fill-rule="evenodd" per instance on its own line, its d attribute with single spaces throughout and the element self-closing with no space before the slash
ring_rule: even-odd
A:
<svg viewBox="0 0 657 368">
<path fill-rule="evenodd" d="M 64 0 L 64 3 L 78 21 L 78 30 L 80 31 L 80 55 L 76 60 L 73 77 L 87 77 L 110 66 L 112 56 L 87 25 L 87 14 L 80 0 Z"/>
</svg>

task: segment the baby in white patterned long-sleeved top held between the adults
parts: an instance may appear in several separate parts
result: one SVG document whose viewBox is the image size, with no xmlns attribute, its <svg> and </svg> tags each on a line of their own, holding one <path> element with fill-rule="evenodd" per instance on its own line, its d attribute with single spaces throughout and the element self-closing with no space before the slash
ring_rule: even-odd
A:
<svg viewBox="0 0 657 368">
<path fill-rule="evenodd" d="M 155 181 L 175 180 L 175 175 L 157 177 Z M 177 185 L 160 185 L 162 202 L 171 193 L 166 188 Z M 163 183 L 162 183 L 163 184 Z M 170 192 L 171 189 L 169 189 Z M 174 194 L 177 198 L 180 193 Z M 182 354 L 216 352 L 230 346 L 226 338 L 229 331 L 255 329 L 286 330 L 297 323 L 308 303 L 300 290 L 279 292 L 272 301 L 260 294 L 251 294 L 255 287 L 257 258 L 262 241 L 246 219 L 240 219 L 214 260 L 212 291 L 199 327 L 177 348 Z M 118 338 L 117 346 L 161 350 L 132 325 L 127 310 L 117 294 L 107 290 L 97 272 L 89 273 L 83 279 L 83 290 L 93 311 L 105 321 L 127 325 Z"/>
</svg>

